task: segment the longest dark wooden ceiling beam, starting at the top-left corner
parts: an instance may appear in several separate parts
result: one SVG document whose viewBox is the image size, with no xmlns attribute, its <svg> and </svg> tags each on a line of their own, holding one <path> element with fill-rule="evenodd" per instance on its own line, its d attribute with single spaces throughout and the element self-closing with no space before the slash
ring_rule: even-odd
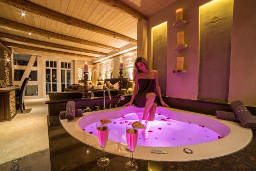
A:
<svg viewBox="0 0 256 171">
<path fill-rule="evenodd" d="M 96 26 L 96 25 L 93 25 L 93 24 L 90 24 L 87 22 L 84 22 L 83 20 L 80 20 L 80 19 L 76 19 L 76 18 L 67 16 L 67 15 L 52 11 L 50 9 L 41 7 L 39 5 L 36 5 L 36 4 L 26 1 L 26 0 L 0 0 L 0 2 L 6 3 L 8 5 L 17 7 L 19 9 L 23 9 L 25 11 L 28 11 L 28 12 L 31 12 L 31 13 L 34 13 L 34 14 L 37 14 L 40 16 L 45 16 L 47 18 L 56 20 L 58 22 L 61 22 L 61 23 L 67 24 L 67 25 L 79 27 L 82 29 L 87 29 L 87 30 L 90 30 L 93 32 L 97 32 L 100 34 L 118 38 L 118 39 L 121 39 L 121 40 L 124 40 L 124 41 L 127 41 L 127 42 L 137 45 L 137 40 L 135 40 L 133 38 L 127 37 L 125 35 L 113 32 L 108 29 L 104 29 L 102 27 L 99 27 L 99 26 Z"/>
</svg>

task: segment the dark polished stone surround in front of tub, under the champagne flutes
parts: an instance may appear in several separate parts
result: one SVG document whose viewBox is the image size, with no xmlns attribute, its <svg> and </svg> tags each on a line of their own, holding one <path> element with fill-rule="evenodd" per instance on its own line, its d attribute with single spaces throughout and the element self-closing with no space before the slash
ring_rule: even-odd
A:
<svg viewBox="0 0 256 171">
<path fill-rule="evenodd" d="M 101 151 L 81 143 L 61 126 L 58 116 L 50 116 L 48 125 L 52 170 L 125 170 L 129 158 L 106 154 L 111 160 L 106 167 L 97 166 Z M 138 170 L 256 170 L 256 130 L 251 143 L 240 152 L 210 160 L 194 162 L 156 162 L 136 160 Z M 239 138 L 239 137 L 238 137 Z M 232 142 L 230 142 L 232 143 Z M 205 152 L 207 153 L 207 152 Z"/>
</svg>

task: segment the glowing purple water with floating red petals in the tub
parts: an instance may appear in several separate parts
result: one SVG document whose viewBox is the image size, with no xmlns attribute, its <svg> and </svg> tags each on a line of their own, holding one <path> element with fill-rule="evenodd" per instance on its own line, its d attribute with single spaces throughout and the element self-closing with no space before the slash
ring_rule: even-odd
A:
<svg viewBox="0 0 256 171">
<path fill-rule="evenodd" d="M 111 119 L 112 123 L 109 124 L 110 141 L 126 144 L 125 125 L 138 121 L 134 120 L 134 115 L 139 117 L 141 113 L 130 113 L 121 118 Z M 87 125 L 83 129 L 85 132 L 97 136 L 96 122 Z M 160 114 L 156 114 L 155 121 L 150 131 L 148 131 L 151 138 L 150 141 L 144 141 L 141 134 L 142 129 L 138 129 L 138 131 L 137 145 L 139 146 L 167 147 L 193 145 L 215 141 L 222 137 L 204 125 L 172 120 Z"/>
</svg>

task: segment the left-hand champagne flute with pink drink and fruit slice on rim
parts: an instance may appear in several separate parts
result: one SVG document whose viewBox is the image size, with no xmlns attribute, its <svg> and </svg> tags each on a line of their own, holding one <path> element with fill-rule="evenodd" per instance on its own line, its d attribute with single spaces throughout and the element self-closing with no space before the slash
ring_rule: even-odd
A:
<svg viewBox="0 0 256 171">
<path fill-rule="evenodd" d="M 98 135 L 98 141 L 99 145 L 102 148 L 102 157 L 98 159 L 97 164 L 101 167 L 104 167 L 108 164 L 110 164 L 110 159 L 107 157 L 104 157 L 104 148 L 106 146 L 106 142 L 108 141 L 109 136 L 109 126 L 108 124 L 101 124 L 96 123 L 97 126 L 97 135 Z"/>
</svg>

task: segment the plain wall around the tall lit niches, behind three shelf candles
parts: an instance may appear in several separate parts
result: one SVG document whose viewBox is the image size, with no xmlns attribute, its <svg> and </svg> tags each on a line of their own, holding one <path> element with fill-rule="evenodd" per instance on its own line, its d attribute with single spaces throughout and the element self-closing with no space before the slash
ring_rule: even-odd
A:
<svg viewBox="0 0 256 171">
<path fill-rule="evenodd" d="M 180 0 L 148 17 L 148 61 L 152 59 L 151 28 L 167 21 L 167 77 L 166 96 L 184 99 L 198 97 L 199 74 L 199 7 L 209 0 Z M 231 66 L 229 83 L 229 102 L 242 100 L 246 105 L 256 106 L 256 1 L 234 0 L 233 27 L 231 37 Z M 175 11 L 183 8 L 187 25 L 174 28 Z M 188 48 L 175 51 L 177 32 L 185 32 Z M 187 73 L 173 73 L 176 58 L 184 57 Z"/>
</svg>

